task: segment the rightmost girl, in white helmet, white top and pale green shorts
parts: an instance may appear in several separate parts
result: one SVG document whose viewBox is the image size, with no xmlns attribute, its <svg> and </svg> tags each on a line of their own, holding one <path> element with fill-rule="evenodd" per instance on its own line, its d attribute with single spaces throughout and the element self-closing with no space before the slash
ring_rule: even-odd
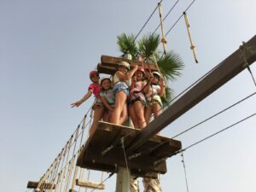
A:
<svg viewBox="0 0 256 192">
<path fill-rule="evenodd" d="M 164 79 L 160 78 L 160 73 L 153 72 L 149 78 L 149 83 L 145 88 L 147 108 L 145 110 L 145 119 L 147 124 L 149 123 L 151 114 L 154 113 L 154 118 L 156 118 L 161 113 L 161 108 L 163 104 L 161 102 L 161 96 L 165 92 Z"/>
</svg>

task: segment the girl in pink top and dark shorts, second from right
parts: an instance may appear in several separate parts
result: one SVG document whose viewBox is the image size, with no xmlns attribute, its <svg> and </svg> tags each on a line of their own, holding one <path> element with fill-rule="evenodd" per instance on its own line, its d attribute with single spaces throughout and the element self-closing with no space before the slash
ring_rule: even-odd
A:
<svg viewBox="0 0 256 192">
<path fill-rule="evenodd" d="M 138 68 L 136 72 L 135 81 L 131 88 L 129 96 L 129 114 L 135 128 L 143 129 L 147 124 L 144 118 L 144 108 L 146 106 L 146 98 L 144 96 L 144 88 L 147 84 L 144 81 L 145 71 L 143 68 Z"/>
</svg>

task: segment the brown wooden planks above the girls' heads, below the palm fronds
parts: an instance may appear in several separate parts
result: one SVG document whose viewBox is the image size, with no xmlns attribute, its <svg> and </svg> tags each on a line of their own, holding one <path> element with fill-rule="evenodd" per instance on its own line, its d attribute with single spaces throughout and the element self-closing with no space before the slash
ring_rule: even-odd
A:
<svg viewBox="0 0 256 192">
<path fill-rule="evenodd" d="M 98 64 L 97 70 L 99 73 L 106 73 L 106 74 L 111 74 L 113 75 L 117 71 L 117 67 L 119 65 L 120 61 L 127 61 L 131 64 L 131 67 L 134 67 L 135 65 L 142 67 L 142 62 L 141 61 L 131 61 L 125 58 L 121 57 L 113 57 L 113 56 L 108 56 L 108 55 L 102 55 L 101 58 L 101 63 Z M 149 63 L 150 69 L 152 71 L 157 71 L 157 67 L 155 63 Z M 148 64 L 144 63 L 144 67 L 146 72 L 148 70 Z"/>
</svg>

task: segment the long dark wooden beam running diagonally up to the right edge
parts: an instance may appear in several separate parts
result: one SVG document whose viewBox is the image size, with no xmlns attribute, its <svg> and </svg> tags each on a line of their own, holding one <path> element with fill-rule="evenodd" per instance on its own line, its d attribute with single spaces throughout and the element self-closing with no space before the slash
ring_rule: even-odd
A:
<svg viewBox="0 0 256 192">
<path fill-rule="evenodd" d="M 241 52 L 241 49 L 244 49 L 245 52 Z M 252 51 L 254 53 L 252 53 Z M 255 51 L 256 36 L 251 38 L 246 43 L 246 46 L 241 46 L 240 49 L 237 49 L 215 68 L 212 73 L 209 73 L 199 83 L 195 84 L 195 86 L 181 96 L 177 102 L 174 102 L 169 108 L 161 113 L 160 116 L 148 124 L 147 127 L 140 132 L 137 138 L 134 139 L 134 143 L 127 148 L 128 152 L 136 150 L 139 146 L 145 143 L 148 138 L 153 137 L 183 113 L 186 113 L 190 108 L 193 108 L 197 103 L 212 94 L 213 91 L 218 90 L 223 84 L 234 78 L 238 73 L 241 73 L 247 65 L 251 65 L 256 61 Z M 245 64 L 246 61 L 247 65 Z"/>
</svg>

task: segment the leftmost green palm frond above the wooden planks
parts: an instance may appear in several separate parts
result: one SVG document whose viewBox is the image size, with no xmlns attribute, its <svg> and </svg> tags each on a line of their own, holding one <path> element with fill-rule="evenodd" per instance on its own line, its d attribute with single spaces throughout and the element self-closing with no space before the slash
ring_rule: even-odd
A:
<svg viewBox="0 0 256 192">
<path fill-rule="evenodd" d="M 125 54 L 131 54 L 132 58 L 135 59 L 137 56 L 137 45 L 135 42 L 134 35 L 126 35 L 122 33 L 118 37 L 117 44 L 119 45 L 119 50 Z"/>
</svg>

